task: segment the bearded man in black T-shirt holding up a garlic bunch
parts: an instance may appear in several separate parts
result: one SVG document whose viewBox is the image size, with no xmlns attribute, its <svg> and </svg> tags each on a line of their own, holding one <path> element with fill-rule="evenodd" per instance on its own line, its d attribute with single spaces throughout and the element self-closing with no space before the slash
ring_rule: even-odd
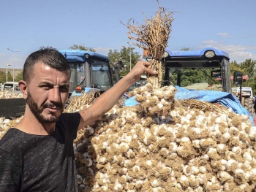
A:
<svg viewBox="0 0 256 192">
<path fill-rule="evenodd" d="M 20 91 L 26 99 L 23 119 L 0 140 L 0 191 L 78 191 L 73 139 L 79 128 L 108 112 L 143 72 L 138 61 L 129 74 L 75 113 L 62 113 L 69 94 L 70 69 L 61 53 L 45 48 L 23 66 Z"/>
</svg>

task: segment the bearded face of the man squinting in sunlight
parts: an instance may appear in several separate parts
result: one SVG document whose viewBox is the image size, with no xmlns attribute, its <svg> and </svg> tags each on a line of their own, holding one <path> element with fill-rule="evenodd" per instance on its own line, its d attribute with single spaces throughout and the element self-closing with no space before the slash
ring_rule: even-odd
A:
<svg viewBox="0 0 256 192">
<path fill-rule="evenodd" d="M 40 122 L 56 123 L 69 94 L 69 71 L 37 63 L 31 75 L 26 98 L 29 109 Z"/>
</svg>

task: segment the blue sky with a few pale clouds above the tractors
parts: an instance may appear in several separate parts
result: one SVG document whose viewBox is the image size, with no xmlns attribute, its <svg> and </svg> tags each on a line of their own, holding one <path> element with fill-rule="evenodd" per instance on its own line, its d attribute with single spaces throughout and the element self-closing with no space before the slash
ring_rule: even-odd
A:
<svg viewBox="0 0 256 192">
<path fill-rule="evenodd" d="M 168 41 L 170 50 L 216 47 L 230 61 L 256 60 L 255 0 L 159 0 L 175 12 Z M 41 46 L 68 49 L 94 47 L 98 53 L 127 44 L 129 18 L 142 24 L 158 10 L 157 0 L 23 0 L 1 1 L 0 68 L 22 68 L 27 56 Z M 18 51 L 12 53 L 7 50 Z M 135 51 L 142 53 L 138 47 Z"/>
</svg>

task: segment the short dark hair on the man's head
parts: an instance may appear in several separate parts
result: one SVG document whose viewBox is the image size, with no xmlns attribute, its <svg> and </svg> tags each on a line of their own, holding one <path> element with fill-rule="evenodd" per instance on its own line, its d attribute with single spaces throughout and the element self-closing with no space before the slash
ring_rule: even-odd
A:
<svg viewBox="0 0 256 192">
<path fill-rule="evenodd" d="M 23 80 L 30 81 L 34 72 L 34 64 L 39 61 L 60 72 L 70 71 L 69 62 L 58 50 L 53 47 L 41 47 L 26 58 L 23 66 Z"/>
</svg>

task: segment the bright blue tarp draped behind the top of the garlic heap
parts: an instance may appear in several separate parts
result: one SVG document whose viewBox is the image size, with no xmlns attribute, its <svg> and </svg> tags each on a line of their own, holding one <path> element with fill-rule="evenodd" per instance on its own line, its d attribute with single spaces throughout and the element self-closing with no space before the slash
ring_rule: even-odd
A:
<svg viewBox="0 0 256 192">
<path fill-rule="evenodd" d="M 244 109 L 244 107 L 241 106 L 240 101 L 236 96 L 234 96 L 232 93 L 227 92 L 221 92 L 221 91 L 191 91 L 185 88 L 180 88 L 176 86 L 177 91 L 175 93 L 175 99 L 197 99 L 200 101 L 208 101 L 211 103 L 219 103 L 227 108 L 232 108 L 233 112 L 236 112 L 237 114 L 245 114 L 249 115 L 250 120 L 252 121 L 252 125 L 255 126 L 255 123 L 253 122 L 252 115 Z M 132 96 L 131 98 L 124 101 L 124 105 L 127 107 L 132 107 L 138 104 L 137 101 L 135 101 L 135 96 Z"/>
</svg>

